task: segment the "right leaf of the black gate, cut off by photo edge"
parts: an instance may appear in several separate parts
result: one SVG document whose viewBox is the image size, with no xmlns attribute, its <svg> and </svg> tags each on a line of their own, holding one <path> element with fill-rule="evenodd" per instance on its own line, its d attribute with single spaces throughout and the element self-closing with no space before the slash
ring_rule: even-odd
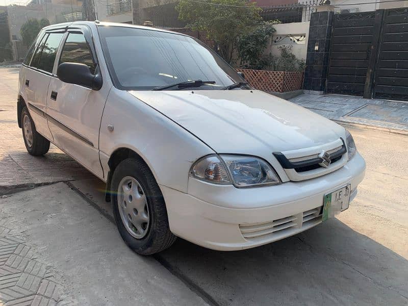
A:
<svg viewBox="0 0 408 306">
<path fill-rule="evenodd" d="M 374 98 L 408 101 L 408 9 L 388 9 L 382 21 Z"/>
</svg>

